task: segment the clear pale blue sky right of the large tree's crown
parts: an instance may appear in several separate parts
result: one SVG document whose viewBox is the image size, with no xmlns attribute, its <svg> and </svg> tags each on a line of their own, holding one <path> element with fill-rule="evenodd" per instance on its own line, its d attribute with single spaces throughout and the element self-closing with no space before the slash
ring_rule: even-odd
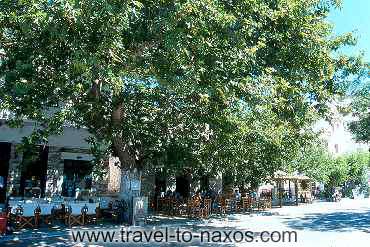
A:
<svg viewBox="0 0 370 247">
<path fill-rule="evenodd" d="M 353 31 L 358 39 L 356 47 L 344 48 L 346 54 L 365 52 L 365 60 L 370 62 L 370 0 L 343 0 L 341 9 L 333 10 L 329 21 L 334 24 L 334 33 Z"/>
</svg>

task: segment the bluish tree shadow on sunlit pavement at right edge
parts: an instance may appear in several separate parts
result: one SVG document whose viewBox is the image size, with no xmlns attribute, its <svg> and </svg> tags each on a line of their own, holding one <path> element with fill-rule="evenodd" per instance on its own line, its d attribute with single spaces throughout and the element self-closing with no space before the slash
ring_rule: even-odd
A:
<svg viewBox="0 0 370 247">
<path fill-rule="evenodd" d="M 284 222 L 297 230 L 351 232 L 370 229 L 370 211 L 308 214 L 304 217 L 289 219 Z"/>
</svg>

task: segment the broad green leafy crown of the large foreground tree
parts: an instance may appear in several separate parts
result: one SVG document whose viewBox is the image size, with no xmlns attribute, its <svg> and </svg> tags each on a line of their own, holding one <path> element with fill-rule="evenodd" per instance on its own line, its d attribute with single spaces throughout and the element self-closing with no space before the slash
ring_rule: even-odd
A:
<svg viewBox="0 0 370 247">
<path fill-rule="evenodd" d="M 0 107 L 40 122 L 34 141 L 87 128 L 127 169 L 177 150 L 174 163 L 261 177 L 361 66 L 333 55 L 355 42 L 332 34 L 337 2 L 4 0 Z"/>
</svg>

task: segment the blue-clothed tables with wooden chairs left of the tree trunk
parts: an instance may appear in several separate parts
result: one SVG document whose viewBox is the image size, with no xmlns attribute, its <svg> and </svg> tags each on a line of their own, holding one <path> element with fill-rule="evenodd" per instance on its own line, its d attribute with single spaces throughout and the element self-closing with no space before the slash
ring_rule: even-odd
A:
<svg viewBox="0 0 370 247">
<path fill-rule="evenodd" d="M 123 222 L 125 202 L 98 197 L 87 201 L 71 198 L 10 198 L 7 206 L 8 224 L 15 229 L 66 227 L 96 224 L 98 221 Z"/>
</svg>

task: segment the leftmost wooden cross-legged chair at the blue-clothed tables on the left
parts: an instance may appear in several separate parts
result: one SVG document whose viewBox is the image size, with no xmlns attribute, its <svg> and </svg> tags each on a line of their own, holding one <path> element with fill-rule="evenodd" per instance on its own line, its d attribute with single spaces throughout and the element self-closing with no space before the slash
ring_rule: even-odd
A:
<svg viewBox="0 0 370 247">
<path fill-rule="evenodd" d="M 40 212 L 34 203 L 24 203 L 16 209 L 16 228 L 36 228 L 39 225 Z"/>
</svg>

